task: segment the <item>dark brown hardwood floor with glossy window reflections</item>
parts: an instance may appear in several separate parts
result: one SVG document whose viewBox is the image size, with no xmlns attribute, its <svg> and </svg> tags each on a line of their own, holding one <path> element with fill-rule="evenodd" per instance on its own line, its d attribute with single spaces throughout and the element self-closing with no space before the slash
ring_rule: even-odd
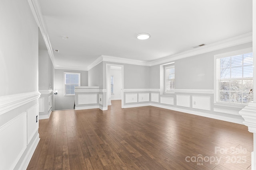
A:
<svg viewBox="0 0 256 170">
<path fill-rule="evenodd" d="M 161 109 L 53 111 L 39 121 L 29 170 L 250 169 L 252 133 L 244 125 Z"/>
</svg>

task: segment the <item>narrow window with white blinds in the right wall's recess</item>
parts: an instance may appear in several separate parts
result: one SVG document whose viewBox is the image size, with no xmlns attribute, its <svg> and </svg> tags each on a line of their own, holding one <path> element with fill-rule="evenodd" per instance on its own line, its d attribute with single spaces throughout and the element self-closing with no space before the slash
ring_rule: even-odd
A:
<svg viewBox="0 0 256 170">
<path fill-rule="evenodd" d="M 166 66 L 165 70 L 165 92 L 174 92 L 175 89 L 175 70 L 174 66 Z"/>
</svg>

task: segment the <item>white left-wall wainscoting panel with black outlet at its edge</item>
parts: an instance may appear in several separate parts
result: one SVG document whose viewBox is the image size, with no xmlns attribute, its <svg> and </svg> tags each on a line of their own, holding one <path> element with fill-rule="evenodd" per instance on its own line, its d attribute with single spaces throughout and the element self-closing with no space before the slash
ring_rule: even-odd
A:
<svg viewBox="0 0 256 170">
<path fill-rule="evenodd" d="M 27 145 L 39 128 L 39 122 L 36 122 L 36 116 L 38 116 L 38 104 L 27 111 Z"/>
</svg>

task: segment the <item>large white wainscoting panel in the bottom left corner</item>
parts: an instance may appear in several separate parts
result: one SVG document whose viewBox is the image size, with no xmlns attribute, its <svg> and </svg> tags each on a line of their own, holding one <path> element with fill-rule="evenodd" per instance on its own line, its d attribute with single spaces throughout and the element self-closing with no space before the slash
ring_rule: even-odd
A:
<svg viewBox="0 0 256 170">
<path fill-rule="evenodd" d="M 26 149 L 26 133 L 26 112 L 0 127 L 0 169 L 14 169 Z"/>
</svg>

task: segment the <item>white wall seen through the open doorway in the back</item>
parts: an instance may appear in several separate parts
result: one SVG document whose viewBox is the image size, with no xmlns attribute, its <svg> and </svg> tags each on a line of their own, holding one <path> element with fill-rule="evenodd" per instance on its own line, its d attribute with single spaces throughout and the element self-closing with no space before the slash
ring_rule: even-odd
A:
<svg viewBox="0 0 256 170">
<path fill-rule="evenodd" d="M 111 94 L 111 100 L 121 100 L 122 70 L 111 69 L 110 76 L 114 76 L 114 94 Z"/>
</svg>

